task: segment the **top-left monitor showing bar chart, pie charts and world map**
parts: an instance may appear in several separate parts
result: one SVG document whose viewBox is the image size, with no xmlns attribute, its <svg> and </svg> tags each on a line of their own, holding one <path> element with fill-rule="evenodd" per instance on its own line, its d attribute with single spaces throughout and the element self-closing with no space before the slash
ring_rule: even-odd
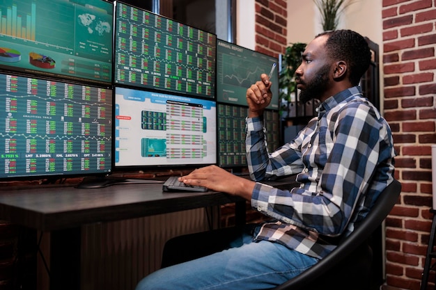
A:
<svg viewBox="0 0 436 290">
<path fill-rule="evenodd" d="M 112 81 L 114 6 L 103 0 L 0 3 L 0 69 L 41 77 Z"/>
</svg>

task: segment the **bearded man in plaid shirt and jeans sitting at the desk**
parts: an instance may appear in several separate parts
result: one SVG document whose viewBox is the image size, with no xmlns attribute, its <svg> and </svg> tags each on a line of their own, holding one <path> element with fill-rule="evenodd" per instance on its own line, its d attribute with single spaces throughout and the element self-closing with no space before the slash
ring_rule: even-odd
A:
<svg viewBox="0 0 436 290">
<path fill-rule="evenodd" d="M 256 181 L 298 173 L 299 188 L 282 191 L 217 166 L 180 177 L 187 184 L 239 195 L 274 218 L 228 250 L 163 268 L 137 289 L 266 289 L 316 264 L 366 216 L 393 180 L 394 147 L 387 122 L 358 86 L 371 52 L 349 30 L 321 33 L 296 71 L 302 102 L 320 100 L 318 116 L 295 140 L 267 152 L 263 111 L 270 104 L 266 74 L 247 90 L 247 162 Z"/>
</svg>

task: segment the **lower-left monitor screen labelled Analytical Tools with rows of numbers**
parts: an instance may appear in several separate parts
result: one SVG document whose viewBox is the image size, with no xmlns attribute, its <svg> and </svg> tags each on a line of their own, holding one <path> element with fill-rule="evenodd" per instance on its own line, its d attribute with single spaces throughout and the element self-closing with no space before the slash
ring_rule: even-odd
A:
<svg viewBox="0 0 436 290">
<path fill-rule="evenodd" d="M 0 74 L 0 97 L 0 179 L 111 172 L 110 89 Z"/>
</svg>

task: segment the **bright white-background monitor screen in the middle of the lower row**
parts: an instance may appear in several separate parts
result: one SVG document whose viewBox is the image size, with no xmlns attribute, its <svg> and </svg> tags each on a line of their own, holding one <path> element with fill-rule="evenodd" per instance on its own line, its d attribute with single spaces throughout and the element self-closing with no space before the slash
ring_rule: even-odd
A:
<svg viewBox="0 0 436 290">
<path fill-rule="evenodd" d="M 210 99 L 115 88 L 115 167 L 217 162 L 217 105 Z"/>
</svg>

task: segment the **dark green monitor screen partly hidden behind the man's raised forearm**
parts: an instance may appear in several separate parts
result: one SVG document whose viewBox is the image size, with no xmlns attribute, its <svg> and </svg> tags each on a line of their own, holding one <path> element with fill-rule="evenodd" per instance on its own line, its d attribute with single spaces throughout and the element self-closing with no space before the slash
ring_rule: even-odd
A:
<svg viewBox="0 0 436 290">
<path fill-rule="evenodd" d="M 247 106 L 217 104 L 218 163 L 223 168 L 247 166 L 245 150 L 245 118 Z M 269 152 L 279 147 L 279 112 L 265 110 L 263 113 Z"/>
</svg>

